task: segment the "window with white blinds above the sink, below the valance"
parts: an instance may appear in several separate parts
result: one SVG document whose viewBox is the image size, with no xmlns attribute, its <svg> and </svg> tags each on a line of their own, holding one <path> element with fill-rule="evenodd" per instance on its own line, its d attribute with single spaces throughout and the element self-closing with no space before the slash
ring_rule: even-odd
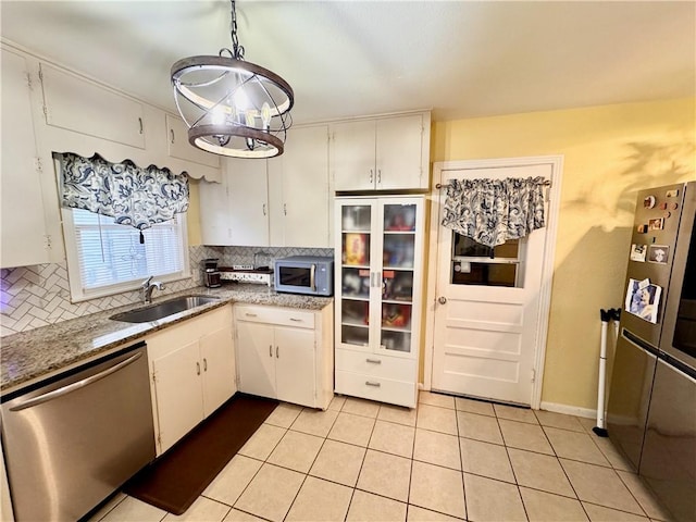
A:
<svg viewBox="0 0 696 522">
<path fill-rule="evenodd" d="M 67 272 L 73 301 L 136 289 L 154 275 L 161 281 L 187 277 L 185 214 L 140 232 L 113 217 L 62 209 Z"/>
</svg>

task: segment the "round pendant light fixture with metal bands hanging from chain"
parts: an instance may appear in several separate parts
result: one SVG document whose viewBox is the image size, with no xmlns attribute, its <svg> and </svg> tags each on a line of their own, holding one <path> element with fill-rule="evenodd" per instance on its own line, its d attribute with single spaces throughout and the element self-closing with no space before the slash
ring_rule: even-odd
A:
<svg viewBox="0 0 696 522">
<path fill-rule="evenodd" d="M 192 146 L 235 158 L 273 158 L 283 153 L 293 123 L 293 88 L 277 74 L 244 60 L 235 0 L 231 3 L 232 50 L 172 65 L 176 108 Z"/>
</svg>

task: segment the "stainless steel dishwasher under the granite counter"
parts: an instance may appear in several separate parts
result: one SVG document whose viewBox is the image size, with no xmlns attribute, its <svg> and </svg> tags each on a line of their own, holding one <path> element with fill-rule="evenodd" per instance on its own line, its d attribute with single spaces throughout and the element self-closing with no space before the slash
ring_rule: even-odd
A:
<svg viewBox="0 0 696 522">
<path fill-rule="evenodd" d="M 154 459 L 145 343 L 2 398 L 15 519 L 77 520 Z"/>
</svg>

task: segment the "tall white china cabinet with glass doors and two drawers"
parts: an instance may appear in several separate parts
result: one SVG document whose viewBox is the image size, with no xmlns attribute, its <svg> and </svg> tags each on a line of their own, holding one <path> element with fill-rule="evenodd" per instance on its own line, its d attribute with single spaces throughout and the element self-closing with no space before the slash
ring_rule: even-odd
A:
<svg viewBox="0 0 696 522">
<path fill-rule="evenodd" d="M 338 394 L 415 407 L 423 197 L 337 198 Z"/>
</svg>

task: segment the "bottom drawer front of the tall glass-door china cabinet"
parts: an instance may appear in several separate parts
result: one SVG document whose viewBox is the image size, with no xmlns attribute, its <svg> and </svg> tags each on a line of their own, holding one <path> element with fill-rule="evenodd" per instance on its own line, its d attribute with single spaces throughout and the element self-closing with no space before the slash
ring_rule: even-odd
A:
<svg viewBox="0 0 696 522">
<path fill-rule="evenodd" d="M 417 384 L 337 370 L 336 393 L 415 408 Z"/>
</svg>

